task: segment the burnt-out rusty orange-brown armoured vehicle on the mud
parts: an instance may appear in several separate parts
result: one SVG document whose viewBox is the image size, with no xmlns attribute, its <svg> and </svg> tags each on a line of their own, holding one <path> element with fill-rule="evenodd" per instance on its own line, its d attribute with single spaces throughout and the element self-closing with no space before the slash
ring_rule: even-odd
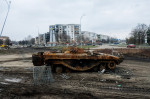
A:
<svg viewBox="0 0 150 99">
<path fill-rule="evenodd" d="M 53 72 L 114 70 L 122 57 L 70 47 L 62 52 L 38 52 L 32 55 L 34 66 L 51 66 Z"/>
</svg>

